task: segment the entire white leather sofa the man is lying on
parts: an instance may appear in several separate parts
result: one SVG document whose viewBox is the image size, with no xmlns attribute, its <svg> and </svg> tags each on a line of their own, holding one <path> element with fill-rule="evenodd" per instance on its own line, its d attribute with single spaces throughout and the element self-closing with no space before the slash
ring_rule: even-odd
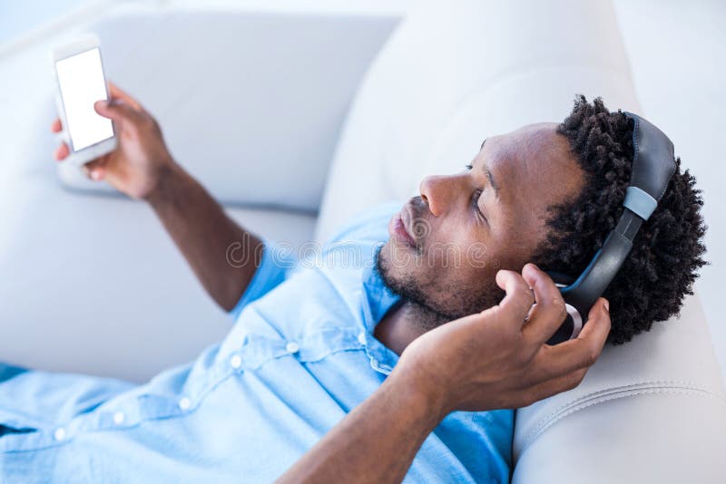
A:
<svg viewBox="0 0 726 484">
<path fill-rule="evenodd" d="M 95 24 L 110 77 L 157 115 L 174 154 L 233 217 L 296 245 L 369 204 L 407 198 L 428 173 L 460 169 L 487 134 L 561 120 L 575 92 L 641 111 L 609 2 L 462 0 L 402 23 L 157 14 L 134 8 Z M 138 44 L 121 44 L 132 26 Z M 290 29 L 294 43 L 279 35 Z M 242 67 L 215 63 L 207 44 L 228 46 Z M 46 75 L 33 63 L 46 49 L 10 63 Z M 174 53 L 183 62 L 170 63 Z M 182 82 L 201 65 L 214 75 Z M 32 120 L 15 120 L 27 140 L 52 116 L 52 85 L 42 94 Z M 218 339 L 230 322 L 148 208 L 83 192 L 70 172 L 63 188 L 52 148 L 50 138 L 17 142 L 11 158 L 27 164 L 0 168 L 13 180 L 0 193 L 0 359 L 141 380 Z M 513 480 L 723 482 L 725 435 L 726 393 L 693 296 L 680 319 L 607 347 L 577 389 L 517 411 Z"/>
</svg>

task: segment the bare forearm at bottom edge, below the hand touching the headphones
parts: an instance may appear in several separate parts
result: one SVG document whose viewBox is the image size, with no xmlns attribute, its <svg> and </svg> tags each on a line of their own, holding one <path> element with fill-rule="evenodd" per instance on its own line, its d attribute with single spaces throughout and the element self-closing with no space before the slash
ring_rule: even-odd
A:
<svg viewBox="0 0 726 484">
<path fill-rule="evenodd" d="M 445 416 L 442 408 L 393 373 L 278 482 L 400 482 Z"/>
</svg>

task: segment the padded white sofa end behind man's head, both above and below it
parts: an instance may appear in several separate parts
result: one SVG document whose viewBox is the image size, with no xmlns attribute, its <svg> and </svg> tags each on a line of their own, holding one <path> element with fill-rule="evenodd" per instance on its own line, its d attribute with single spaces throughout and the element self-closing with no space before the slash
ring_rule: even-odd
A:
<svg viewBox="0 0 726 484">
<path fill-rule="evenodd" d="M 441 18 L 437 5 L 410 16 L 368 72 L 318 237 L 410 196 L 427 173 L 460 169 L 488 133 L 561 120 L 575 92 L 641 112 L 609 2 L 470 0 Z M 573 391 L 516 412 L 513 481 L 724 482 L 724 446 L 726 393 L 693 296 L 680 319 L 607 346 Z"/>
</svg>

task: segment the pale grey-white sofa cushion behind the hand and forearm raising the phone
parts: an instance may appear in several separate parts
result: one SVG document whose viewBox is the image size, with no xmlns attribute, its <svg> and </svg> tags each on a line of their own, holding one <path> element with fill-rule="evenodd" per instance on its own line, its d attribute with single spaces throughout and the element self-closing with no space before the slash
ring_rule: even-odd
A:
<svg viewBox="0 0 726 484">
<path fill-rule="evenodd" d="M 174 11 L 93 30 L 107 77 L 152 112 L 176 160 L 215 197 L 316 211 L 348 102 L 396 23 Z M 111 191 L 59 169 L 68 187 Z"/>
</svg>

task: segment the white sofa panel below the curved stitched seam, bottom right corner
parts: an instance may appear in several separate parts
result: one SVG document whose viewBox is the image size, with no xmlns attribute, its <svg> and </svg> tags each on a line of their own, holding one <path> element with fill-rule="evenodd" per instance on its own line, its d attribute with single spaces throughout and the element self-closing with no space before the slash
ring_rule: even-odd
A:
<svg viewBox="0 0 726 484">
<path fill-rule="evenodd" d="M 530 444 L 513 483 L 726 481 L 722 397 L 662 382 L 583 405 Z"/>
</svg>

